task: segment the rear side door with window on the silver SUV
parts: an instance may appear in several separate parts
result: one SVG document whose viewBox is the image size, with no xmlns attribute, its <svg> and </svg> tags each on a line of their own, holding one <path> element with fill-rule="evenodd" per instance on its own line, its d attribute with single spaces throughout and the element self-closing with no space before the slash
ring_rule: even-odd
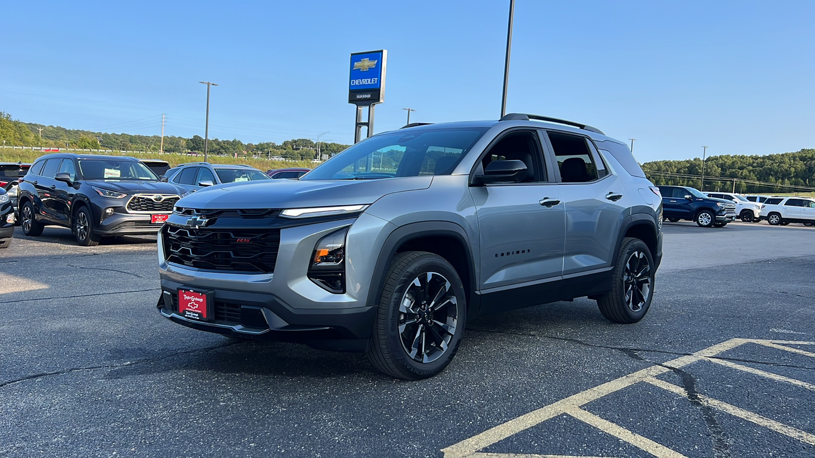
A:
<svg viewBox="0 0 815 458">
<path fill-rule="evenodd" d="M 548 130 L 549 163 L 557 177 L 557 198 L 566 210 L 563 279 L 601 273 L 615 258 L 617 237 L 632 199 L 610 174 L 588 137 Z"/>
</svg>

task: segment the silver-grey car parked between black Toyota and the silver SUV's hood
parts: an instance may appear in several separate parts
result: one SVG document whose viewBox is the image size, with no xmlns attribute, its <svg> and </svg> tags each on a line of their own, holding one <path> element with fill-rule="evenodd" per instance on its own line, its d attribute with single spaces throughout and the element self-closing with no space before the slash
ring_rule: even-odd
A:
<svg viewBox="0 0 815 458">
<path fill-rule="evenodd" d="M 167 170 L 170 183 L 195 192 L 203 187 L 223 183 L 241 183 L 271 179 L 261 170 L 249 165 L 221 165 L 209 162 L 190 162 Z"/>
</svg>

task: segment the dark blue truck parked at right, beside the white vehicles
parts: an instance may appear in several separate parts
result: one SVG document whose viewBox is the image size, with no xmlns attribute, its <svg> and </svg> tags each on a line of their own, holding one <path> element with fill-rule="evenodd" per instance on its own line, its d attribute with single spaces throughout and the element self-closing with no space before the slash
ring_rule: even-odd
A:
<svg viewBox="0 0 815 458">
<path fill-rule="evenodd" d="M 736 205 L 730 200 L 705 196 L 693 187 L 660 186 L 663 196 L 663 218 L 695 221 L 701 227 L 725 227 L 736 219 Z"/>
</svg>

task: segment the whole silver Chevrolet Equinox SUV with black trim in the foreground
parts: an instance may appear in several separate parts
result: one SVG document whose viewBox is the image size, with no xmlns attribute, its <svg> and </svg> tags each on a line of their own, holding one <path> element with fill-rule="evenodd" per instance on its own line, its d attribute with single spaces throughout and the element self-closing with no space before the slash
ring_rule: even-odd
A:
<svg viewBox="0 0 815 458">
<path fill-rule="evenodd" d="M 516 113 L 411 124 L 299 180 L 179 200 L 158 241 L 158 308 L 203 331 L 363 351 L 421 379 L 475 316 L 588 296 L 611 321 L 639 321 L 661 224 L 659 189 L 591 126 Z"/>
</svg>

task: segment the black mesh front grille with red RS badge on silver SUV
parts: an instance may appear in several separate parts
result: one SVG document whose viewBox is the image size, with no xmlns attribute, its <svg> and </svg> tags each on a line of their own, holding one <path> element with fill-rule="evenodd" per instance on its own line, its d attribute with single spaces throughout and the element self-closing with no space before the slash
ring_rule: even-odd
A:
<svg viewBox="0 0 815 458">
<path fill-rule="evenodd" d="M 167 262 L 210 271 L 272 273 L 280 247 L 279 229 L 218 230 L 165 225 L 162 237 Z"/>
</svg>

